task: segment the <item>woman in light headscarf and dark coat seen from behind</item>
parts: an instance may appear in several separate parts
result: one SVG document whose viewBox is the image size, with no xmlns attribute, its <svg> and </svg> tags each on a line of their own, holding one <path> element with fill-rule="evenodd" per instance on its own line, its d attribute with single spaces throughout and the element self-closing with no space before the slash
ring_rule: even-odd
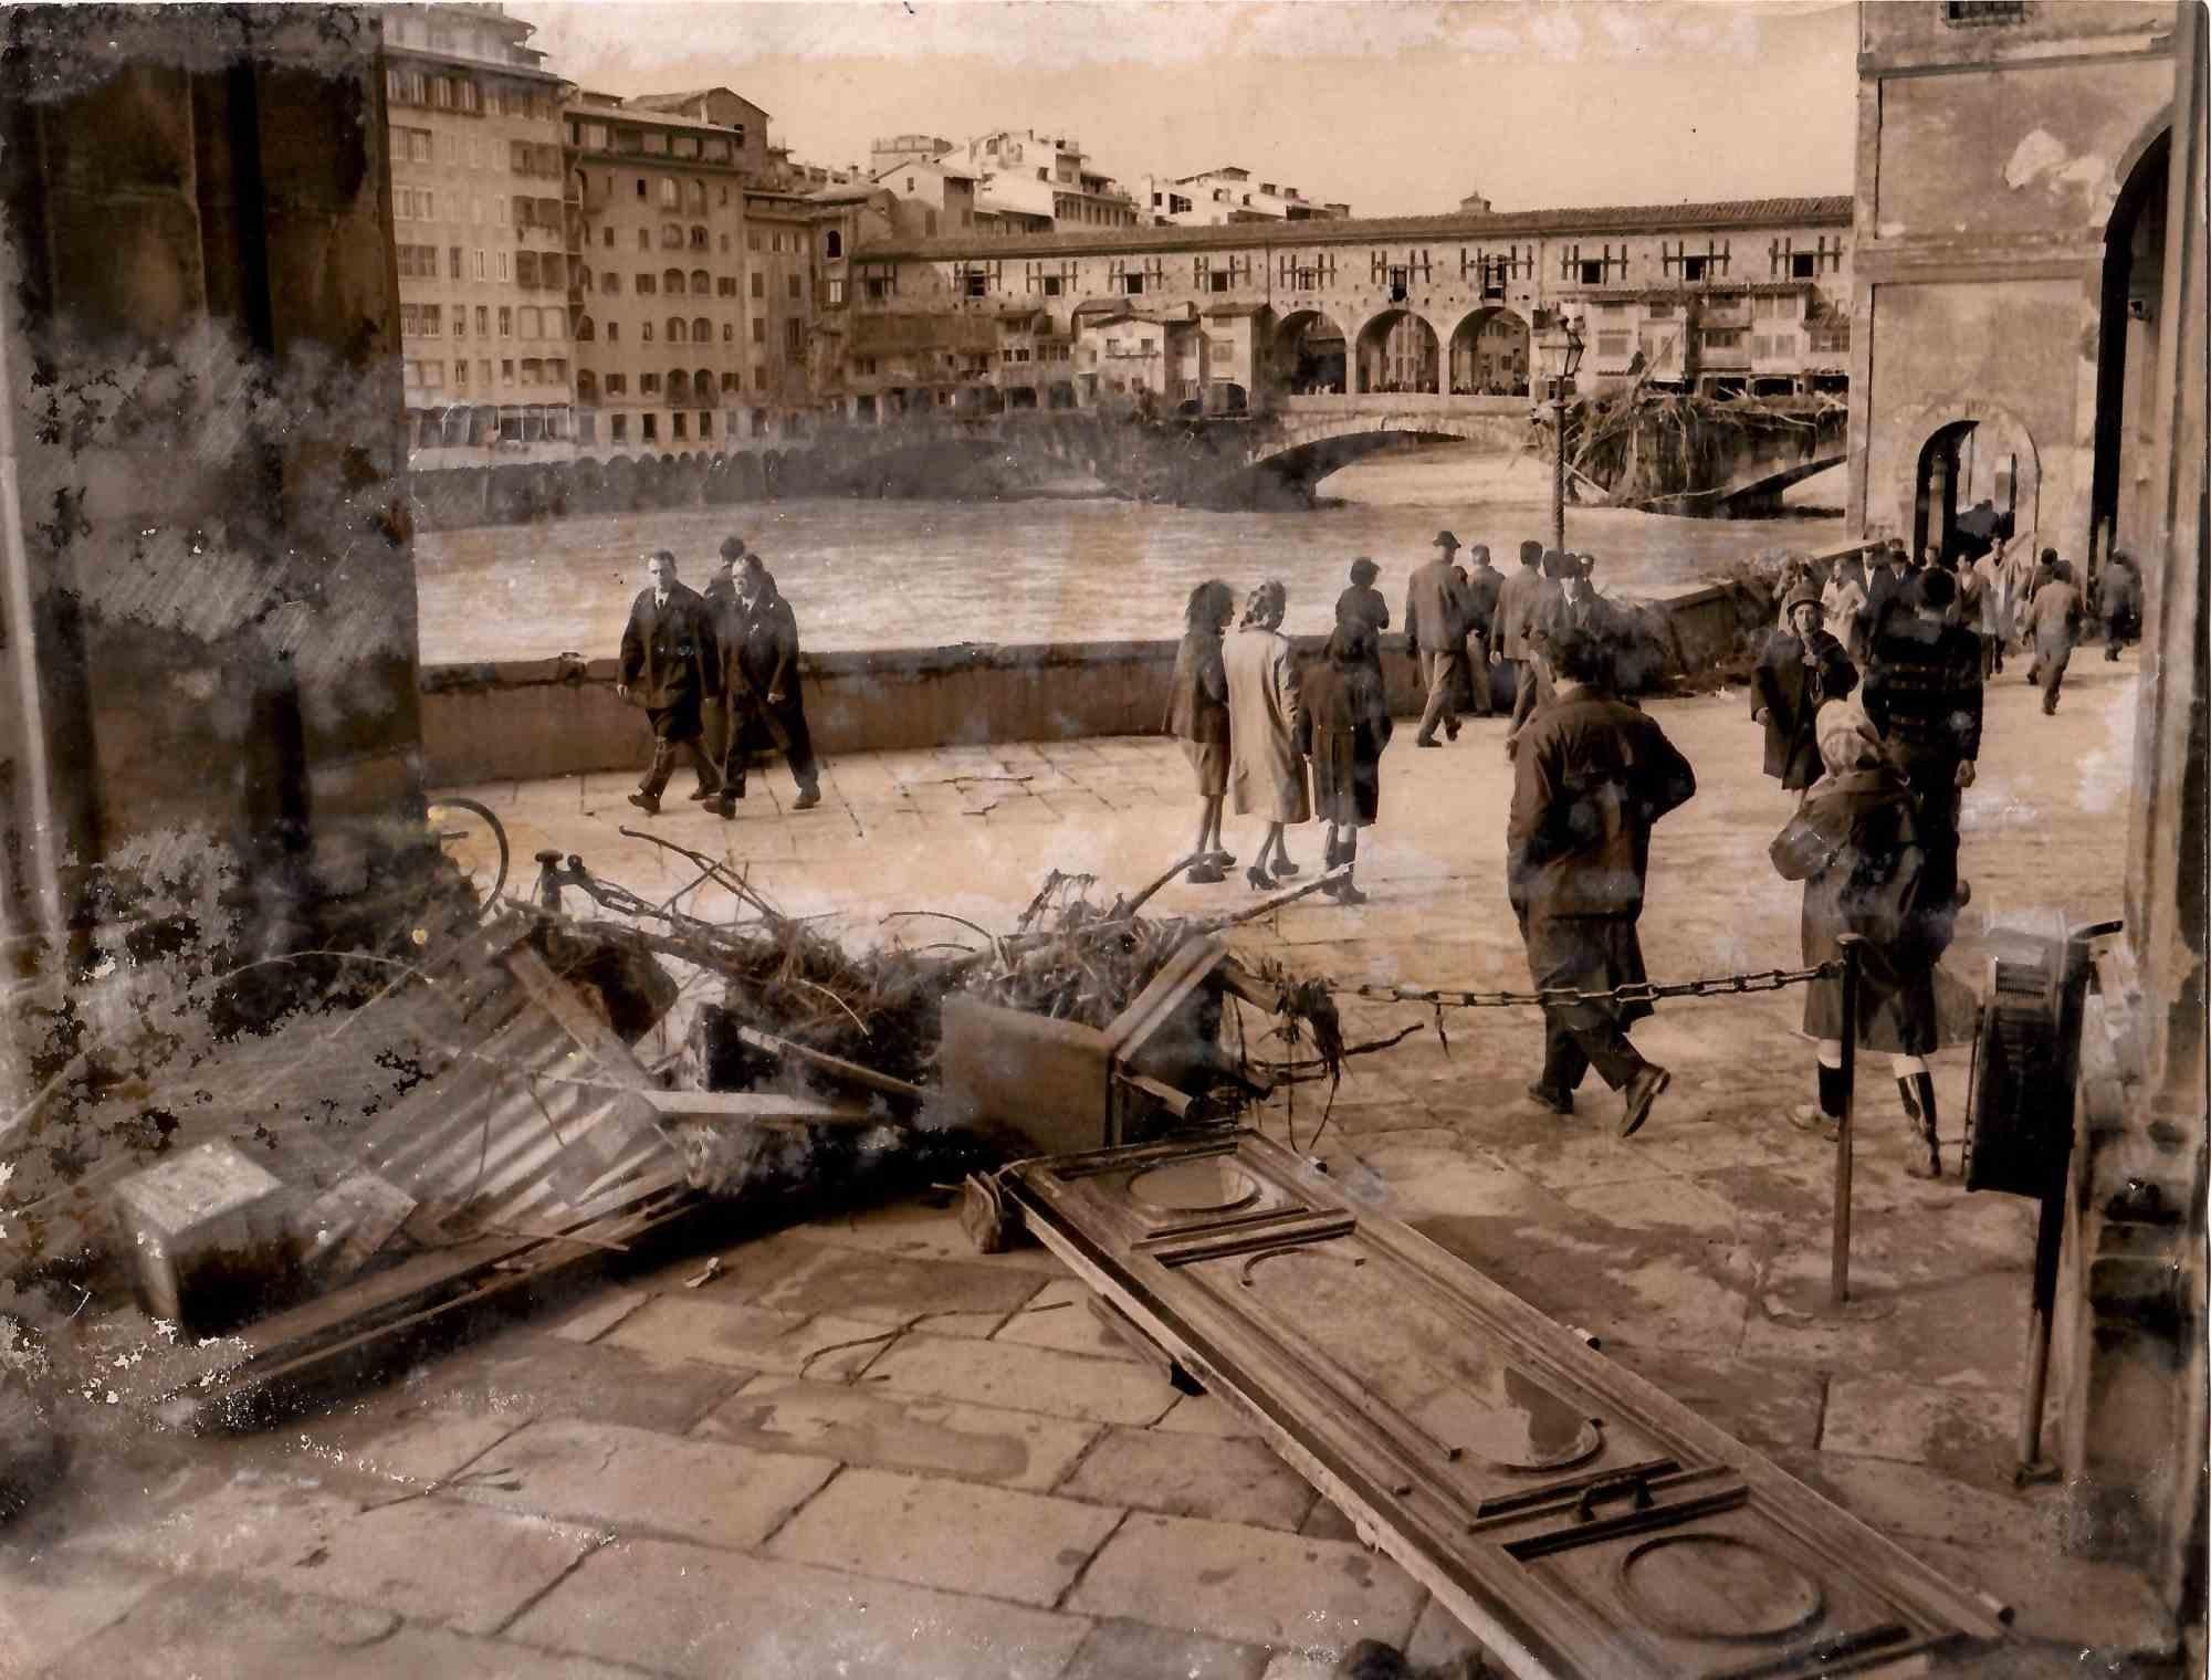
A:
<svg viewBox="0 0 2211 1680">
<path fill-rule="evenodd" d="M 1857 1043 L 1890 1054 L 1906 1119 L 1926 1145 L 1913 1178 L 1941 1178 L 1935 1132 L 1935 964 L 1950 944 L 1957 904 L 1932 889 L 1915 829 L 1910 783 L 1886 760 L 1866 714 L 1851 701 L 1820 710 L 1826 776 L 1773 840 L 1782 880 L 1804 882 L 1804 964 L 1842 955 L 1842 935 L 1864 937 Z M 1817 1039 L 1820 1105 L 1791 1121 L 1828 1138 L 1842 1123 L 1842 979 L 1815 979 L 1804 997 L 1804 1032 Z"/>
</svg>

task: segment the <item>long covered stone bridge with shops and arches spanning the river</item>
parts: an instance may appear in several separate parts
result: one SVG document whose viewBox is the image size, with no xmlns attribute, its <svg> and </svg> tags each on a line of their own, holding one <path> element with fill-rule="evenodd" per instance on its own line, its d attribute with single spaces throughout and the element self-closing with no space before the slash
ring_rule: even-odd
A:
<svg viewBox="0 0 2211 1680">
<path fill-rule="evenodd" d="M 862 237 L 845 409 L 891 431 L 1243 416 L 1269 422 L 1243 464 L 1311 484 L 1406 435 L 1521 438 L 1550 393 L 1534 338 L 1561 312 L 1581 321 L 1583 393 L 1643 378 L 1795 407 L 1848 387 L 1848 197 Z M 1828 431 L 1820 464 L 1842 455 Z"/>
</svg>

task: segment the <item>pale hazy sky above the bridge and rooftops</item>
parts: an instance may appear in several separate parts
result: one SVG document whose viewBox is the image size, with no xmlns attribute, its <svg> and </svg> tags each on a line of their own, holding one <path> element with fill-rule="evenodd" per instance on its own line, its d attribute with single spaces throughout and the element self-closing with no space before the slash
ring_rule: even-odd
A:
<svg viewBox="0 0 2211 1680">
<path fill-rule="evenodd" d="M 1072 135 L 1123 183 L 1240 164 L 1355 214 L 1848 192 L 1844 0 L 509 0 L 604 93 L 730 86 L 811 164 Z"/>
</svg>

